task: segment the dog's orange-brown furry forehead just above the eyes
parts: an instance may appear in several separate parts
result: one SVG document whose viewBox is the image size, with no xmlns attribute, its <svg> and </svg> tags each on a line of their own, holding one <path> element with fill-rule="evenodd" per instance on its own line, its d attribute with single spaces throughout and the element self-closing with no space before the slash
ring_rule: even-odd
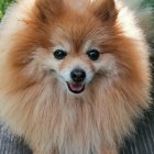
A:
<svg viewBox="0 0 154 154">
<path fill-rule="evenodd" d="M 67 48 L 84 48 L 84 46 L 90 46 L 96 42 L 97 28 L 88 23 L 77 24 L 69 21 L 67 24 L 57 24 L 54 28 L 51 36 L 53 45 L 67 46 Z M 96 32 L 97 31 L 97 32 Z M 69 46 L 69 47 L 68 47 Z"/>
</svg>

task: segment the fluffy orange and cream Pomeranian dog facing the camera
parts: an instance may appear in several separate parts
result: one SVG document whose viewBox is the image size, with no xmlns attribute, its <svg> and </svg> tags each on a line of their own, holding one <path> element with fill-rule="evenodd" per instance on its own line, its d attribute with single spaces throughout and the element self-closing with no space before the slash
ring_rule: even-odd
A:
<svg viewBox="0 0 154 154">
<path fill-rule="evenodd" d="M 122 1 L 12 4 L 0 26 L 2 121 L 34 154 L 118 154 L 151 102 L 141 28 Z"/>
</svg>

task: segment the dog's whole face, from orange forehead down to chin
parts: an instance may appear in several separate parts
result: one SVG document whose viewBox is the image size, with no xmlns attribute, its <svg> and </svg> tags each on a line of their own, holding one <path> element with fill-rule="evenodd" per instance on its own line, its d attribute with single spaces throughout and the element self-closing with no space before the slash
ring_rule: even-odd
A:
<svg viewBox="0 0 154 154">
<path fill-rule="evenodd" d="M 101 41 L 107 34 L 100 25 L 95 25 L 95 20 L 72 16 L 68 21 L 70 23 L 57 23 L 54 28 L 51 35 L 52 47 L 44 66 L 67 87 L 68 91 L 80 94 L 91 84 L 100 69 L 110 67 L 107 66 L 106 58 L 103 59 L 106 51 L 101 46 Z"/>
</svg>

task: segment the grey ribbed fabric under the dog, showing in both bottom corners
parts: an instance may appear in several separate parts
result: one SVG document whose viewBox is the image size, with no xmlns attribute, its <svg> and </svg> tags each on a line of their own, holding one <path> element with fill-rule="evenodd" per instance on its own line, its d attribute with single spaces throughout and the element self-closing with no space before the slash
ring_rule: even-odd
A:
<svg viewBox="0 0 154 154">
<path fill-rule="evenodd" d="M 22 139 L 0 125 L 0 154 L 32 154 Z M 136 133 L 125 140 L 120 154 L 154 154 L 154 108 L 136 123 Z"/>
</svg>

